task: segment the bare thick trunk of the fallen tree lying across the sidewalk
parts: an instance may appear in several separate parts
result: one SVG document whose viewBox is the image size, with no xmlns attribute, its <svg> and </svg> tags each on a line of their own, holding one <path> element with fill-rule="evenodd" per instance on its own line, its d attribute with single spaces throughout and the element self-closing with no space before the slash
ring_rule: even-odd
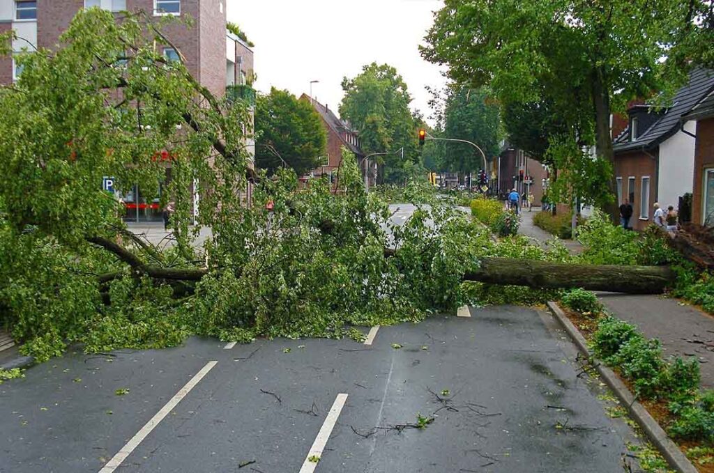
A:
<svg viewBox="0 0 714 473">
<path fill-rule="evenodd" d="M 481 268 L 463 276 L 466 281 L 530 288 L 660 294 L 670 288 L 675 274 L 664 266 L 570 265 L 512 258 L 483 258 Z"/>
</svg>

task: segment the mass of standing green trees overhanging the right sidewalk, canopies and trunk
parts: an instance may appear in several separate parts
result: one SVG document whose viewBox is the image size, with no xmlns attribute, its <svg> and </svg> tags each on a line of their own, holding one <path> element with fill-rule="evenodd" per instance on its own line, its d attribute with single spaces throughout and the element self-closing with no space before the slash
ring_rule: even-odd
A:
<svg viewBox="0 0 714 473">
<path fill-rule="evenodd" d="M 493 91 L 516 146 L 568 168 L 565 194 L 614 210 L 610 113 L 713 65 L 714 3 L 446 0 L 426 41 L 453 81 Z"/>
</svg>

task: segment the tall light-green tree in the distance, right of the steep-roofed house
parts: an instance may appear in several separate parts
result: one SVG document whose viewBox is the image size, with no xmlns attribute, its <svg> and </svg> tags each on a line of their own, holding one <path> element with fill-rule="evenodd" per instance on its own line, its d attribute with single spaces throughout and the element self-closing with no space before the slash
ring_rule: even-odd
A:
<svg viewBox="0 0 714 473">
<path fill-rule="evenodd" d="M 345 96 L 340 116 L 360 133 L 366 153 L 391 152 L 378 159 L 379 180 L 401 180 L 407 169 L 404 161 L 418 161 L 416 122 L 409 110 L 411 96 L 396 68 L 371 63 L 354 78 L 344 78 Z M 396 153 L 404 148 L 404 160 Z"/>
</svg>

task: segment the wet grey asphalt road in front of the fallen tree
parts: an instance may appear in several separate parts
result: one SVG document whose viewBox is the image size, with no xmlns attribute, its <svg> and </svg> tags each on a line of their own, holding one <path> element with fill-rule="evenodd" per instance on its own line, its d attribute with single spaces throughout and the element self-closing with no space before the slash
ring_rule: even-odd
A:
<svg viewBox="0 0 714 473">
<path fill-rule="evenodd" d="M 69 353 L 0 385 L 0 472 L 107 473 L 122 450 L 111 471 L 622 472 L 632 432 L 605 414 L 599 383 L 578 377 L 550 315 L 471 315 L 381 327 L 372 345 L 226 349 L 194 337 L 169 350 Z M 316 439 L 326 442 L 317 463 L 307 460 Z"/>
</svg>

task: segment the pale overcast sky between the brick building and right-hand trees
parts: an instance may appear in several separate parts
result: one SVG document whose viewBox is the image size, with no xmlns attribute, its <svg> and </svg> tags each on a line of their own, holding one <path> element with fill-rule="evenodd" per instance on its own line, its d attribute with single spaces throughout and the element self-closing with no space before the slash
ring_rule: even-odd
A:
<svg viewBox="0 0 714 473">
<path fill-rule="evenodd" d="M 256 44 L 256 88 L 309 93 L 337 111 L 344 76 L 376 61 L 397 68 L 413 101 L 428 118 L 424 86 L 439 87 L 440 68 L 417 49 L 441 0 L 227 0 L 233 21 Z"/>
</svg>

